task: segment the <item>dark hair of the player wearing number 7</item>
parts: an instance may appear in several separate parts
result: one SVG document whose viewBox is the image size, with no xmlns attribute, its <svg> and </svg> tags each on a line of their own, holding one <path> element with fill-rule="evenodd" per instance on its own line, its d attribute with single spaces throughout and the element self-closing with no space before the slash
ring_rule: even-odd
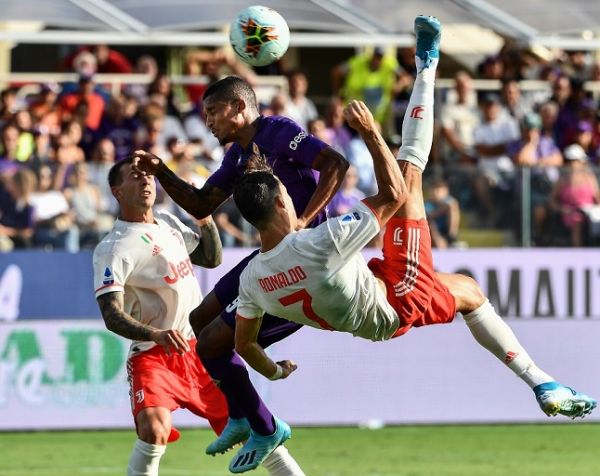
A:
<svg viewBox="0 0 600 476">
<path fill-rule="evenodd" d="M 233 189 L 233 201 L 242 216 L 259 230 L 273 215 L 275 199 L 280 194 L 279 180 L 253 144 L 254 153 L 248 159 L 245 174 Z"/>
</svg>

